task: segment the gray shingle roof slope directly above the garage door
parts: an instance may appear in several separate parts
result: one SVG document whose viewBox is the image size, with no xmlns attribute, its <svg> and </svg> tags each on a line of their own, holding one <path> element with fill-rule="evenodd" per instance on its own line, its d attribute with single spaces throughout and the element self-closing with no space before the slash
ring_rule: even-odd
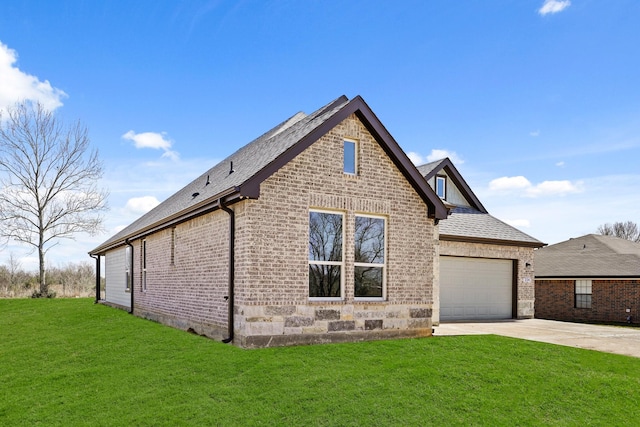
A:
<svg viewBox="0 0 640 427">
<path fill-rule="evenodd" d="M 543 243 L 500 221 L 488 213 L 473 208 L 456 207 L 449 218 L 440 221 L 440 236 L 452 240 L 495 240 L 510 244 L 540 247 Z"/>
</svg>

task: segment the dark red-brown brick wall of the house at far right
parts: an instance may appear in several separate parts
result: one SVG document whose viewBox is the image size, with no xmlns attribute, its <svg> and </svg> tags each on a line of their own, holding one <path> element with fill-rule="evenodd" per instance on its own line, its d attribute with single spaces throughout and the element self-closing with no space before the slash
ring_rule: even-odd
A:
<svg viewBox="0 0 640 427">
<path fill-rule="evenodd" d="M 574 280 L 536 280 L 536 317 L 640 323 L 640 280 L 592 280 L 591 308 L 575 308 Z M 627 313 L 627 309 L 630 311 Z"/>
</svg>

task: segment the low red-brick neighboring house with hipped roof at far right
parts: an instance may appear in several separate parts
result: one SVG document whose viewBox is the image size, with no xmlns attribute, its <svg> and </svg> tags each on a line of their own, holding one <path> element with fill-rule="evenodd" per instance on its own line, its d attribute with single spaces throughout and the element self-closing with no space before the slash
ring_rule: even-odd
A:
<svg viewBox="0 0 640 427">
<path fill-rule="evenodd" d="M 536 317 L 640 323 L 640 243 L 588 234 L 536 251 Z"/>
</svg>

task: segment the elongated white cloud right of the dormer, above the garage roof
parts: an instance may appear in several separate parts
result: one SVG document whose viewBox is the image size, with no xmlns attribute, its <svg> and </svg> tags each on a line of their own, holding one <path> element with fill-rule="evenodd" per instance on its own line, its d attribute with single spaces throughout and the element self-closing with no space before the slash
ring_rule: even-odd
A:
<svg viewBox="0 0 640 427">
<path fill-rule="evenodd" d="M 543 181 L 533 185 L 524 176 L 496 178 L 489 183 L 489 190 L 500 193 L 519 193 L 524 197 L 564 196 L 583 191 L 581 181 Z"/>
</svg>

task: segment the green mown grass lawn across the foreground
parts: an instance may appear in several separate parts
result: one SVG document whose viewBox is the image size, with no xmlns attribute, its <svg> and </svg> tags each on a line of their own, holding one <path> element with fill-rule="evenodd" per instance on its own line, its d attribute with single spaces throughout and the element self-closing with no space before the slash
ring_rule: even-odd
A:
<svg viewBox="0 0 640 427">
<path fill-rule="evenodd" d="M 0 425 L 637 425 L 640 359 L 497 336 L 241 350 L 0 300 Z"/>
</svg>

